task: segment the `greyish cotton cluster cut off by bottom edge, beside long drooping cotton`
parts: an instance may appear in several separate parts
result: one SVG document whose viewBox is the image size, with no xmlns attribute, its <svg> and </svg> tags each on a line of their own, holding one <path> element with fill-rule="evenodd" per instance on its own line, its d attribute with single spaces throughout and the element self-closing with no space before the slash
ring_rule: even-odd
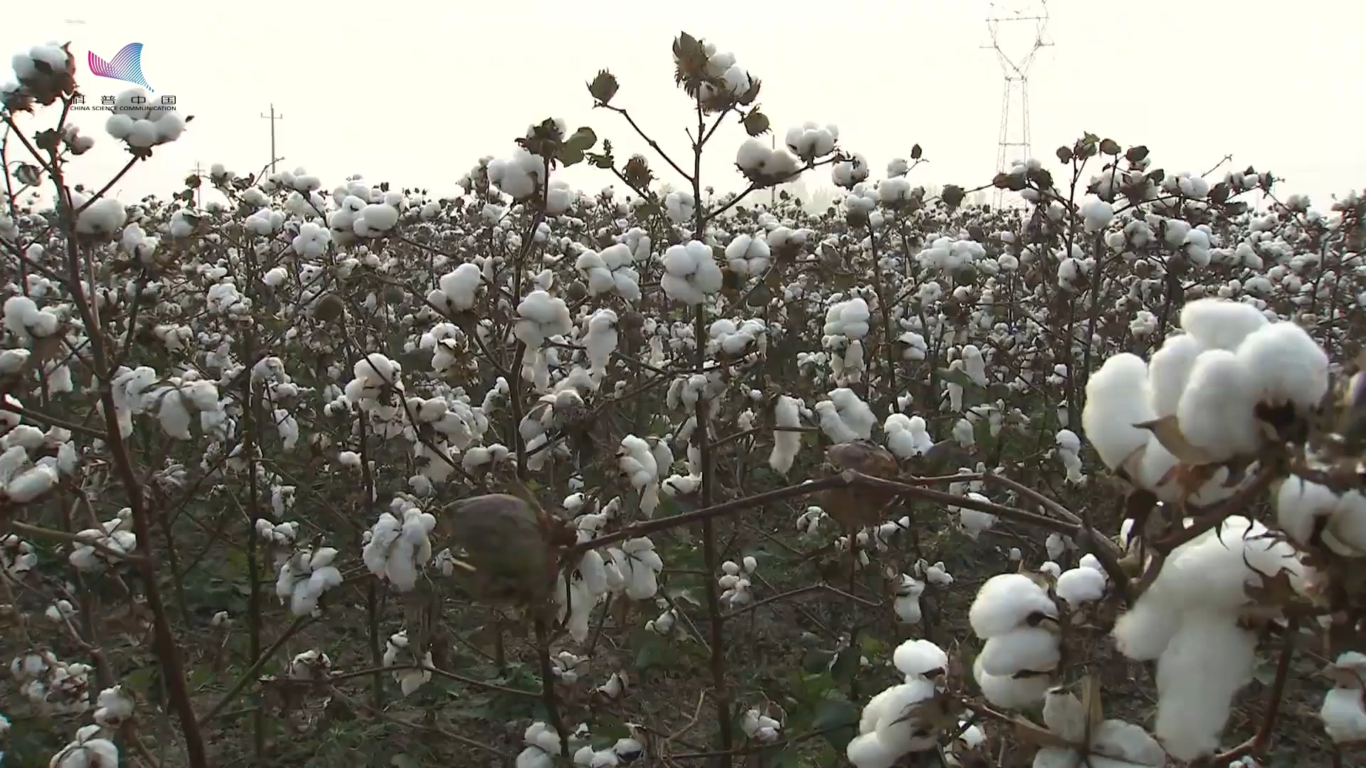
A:
<svg viewBox="0 0 1366 768">
<path fill-rule="evenodd" d="M 1164 768 L 1167 753 L 1141 726 L 1124 720 L 1091 722 L 1082 700 L 1065 689 L 1044 698 L 1044 724 L 1075 748 L 1045 746 L 1034 754 L 1034 768 Z"/>
</svg>

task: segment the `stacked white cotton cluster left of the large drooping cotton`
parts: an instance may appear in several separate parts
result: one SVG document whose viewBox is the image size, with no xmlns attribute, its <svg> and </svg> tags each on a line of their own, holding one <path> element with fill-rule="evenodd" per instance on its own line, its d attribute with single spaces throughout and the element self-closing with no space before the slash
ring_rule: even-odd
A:
<svg viewBox="0 0 1366 768">
<path fill-rule="evenodd" d="M 973 678 L 996 707 L 1038 704 L 1061 661 L 1059 609 L 1048 589 L 1024 574 L 1000 574 L 977 592 L 967 619 L 986 641 L 973 661 Z"/>
</svg>

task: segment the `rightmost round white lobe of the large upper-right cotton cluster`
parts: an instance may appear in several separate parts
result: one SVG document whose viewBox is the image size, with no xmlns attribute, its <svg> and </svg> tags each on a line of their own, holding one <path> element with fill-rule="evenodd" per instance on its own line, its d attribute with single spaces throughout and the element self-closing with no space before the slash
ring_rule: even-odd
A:
<svg viewBox="0 0 1366 768">
<path fill-rule="evenodd" d="M 1262 325 L 1243 339 L 1236 354 L 1264 403 L 1288 402 L 1303 413 L 1328 394 L 1328 353 L 1294 323 Z"/>
</svg>

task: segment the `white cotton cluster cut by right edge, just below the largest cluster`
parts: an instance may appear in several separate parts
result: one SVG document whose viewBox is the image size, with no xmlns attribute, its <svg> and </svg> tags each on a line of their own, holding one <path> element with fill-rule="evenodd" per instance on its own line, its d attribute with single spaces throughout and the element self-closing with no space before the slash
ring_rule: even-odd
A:
<svg viewBox="0 0 1366 768">
<path fill-rule="evenodd" d="M 1276 489 L 1276 526 L 1295 543 L 1318 541 L 1344 558 L 1366 558 L 1366 496 L 1350 489 L 1336 493 L 1298 476 L 1290 476 Z"/>
</svg>

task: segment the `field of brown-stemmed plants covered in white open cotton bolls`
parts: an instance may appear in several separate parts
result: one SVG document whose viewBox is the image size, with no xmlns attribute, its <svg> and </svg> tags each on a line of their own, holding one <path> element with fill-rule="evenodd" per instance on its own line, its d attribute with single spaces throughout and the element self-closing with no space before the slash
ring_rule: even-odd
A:
<svg viewBox="0 0 1366 768">
<path fill-rule="evenodd" d="M 0 761 L 1366 760 L 1366 200 L 1091 134 L 930 195 L 672 57 L 686 156 L 604 70 L 459 194 L 142 201 L 67 169 L 201 123 L 15 57 Z"/>
</svg>

